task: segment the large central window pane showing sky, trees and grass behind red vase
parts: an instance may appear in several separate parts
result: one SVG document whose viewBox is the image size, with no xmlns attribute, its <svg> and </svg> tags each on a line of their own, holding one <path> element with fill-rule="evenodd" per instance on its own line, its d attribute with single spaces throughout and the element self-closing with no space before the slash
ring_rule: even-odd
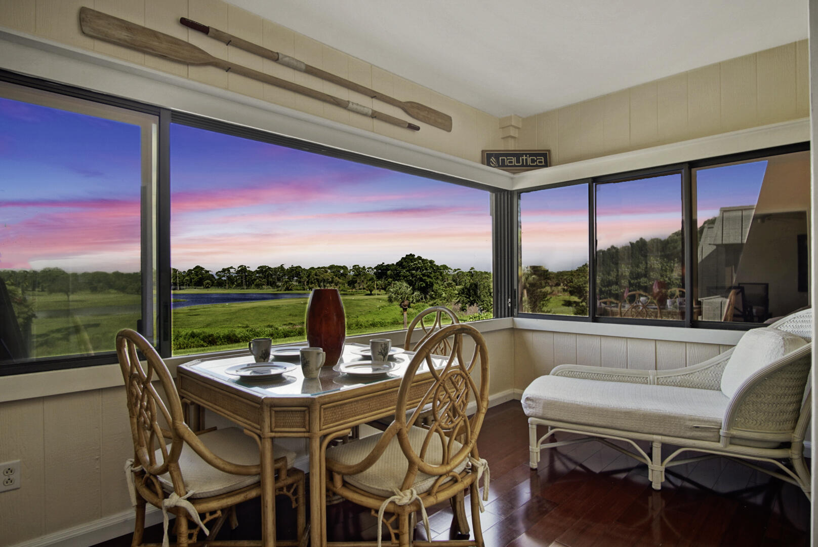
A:
<svg viewBox="0 0 818 547">
<path fill-rule="evenodd" d="M 348 335 L 492 317 L 488 191 L 259 138 L 171 124 L 174 354 L 303 341 L 317 287 Z"/>
</svg>

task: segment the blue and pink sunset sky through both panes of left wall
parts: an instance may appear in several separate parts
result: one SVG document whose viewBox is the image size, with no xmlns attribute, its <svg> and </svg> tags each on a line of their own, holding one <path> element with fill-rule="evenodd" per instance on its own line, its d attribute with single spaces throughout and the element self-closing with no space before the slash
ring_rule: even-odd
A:
<svg viewBox="0 0 818 547">
<path fill-rule="evenodd" d="M 138 271 L 140 128 L 0 98 L 0 269 Z M 489 193 L 173 124 L 172 265 L 490 270 Z"/>
</svg>

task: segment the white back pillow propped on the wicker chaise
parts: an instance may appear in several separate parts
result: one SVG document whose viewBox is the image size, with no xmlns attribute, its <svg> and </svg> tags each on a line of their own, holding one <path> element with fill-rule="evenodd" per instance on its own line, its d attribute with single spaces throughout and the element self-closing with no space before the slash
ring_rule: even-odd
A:
<svg viewBox="0 0 818 547">
<path fill-rule="evenodd" d="M 802 337 L 777 328 L 753 328 L 745 332 L 721 374 L 721 392 L 728 397 L 734 396 L 744 380 L 758 369 L 806 343 Z"/>
</svg>

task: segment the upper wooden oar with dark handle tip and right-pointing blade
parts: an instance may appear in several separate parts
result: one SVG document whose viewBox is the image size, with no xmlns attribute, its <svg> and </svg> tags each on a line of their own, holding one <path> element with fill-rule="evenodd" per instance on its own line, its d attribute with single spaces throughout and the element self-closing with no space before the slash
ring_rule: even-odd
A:
<svg viewBox="0 0 818 547">
<path fill-rule="evenodd" d="M 245 39 L 239 38 L 238 36 L 227 34 L 223 30 L 216 29 L 212 26 L 202 25 L 201 23 L 188 19 L 187 17 L 180 17 L 179 22 L 188 28 L 207 34 L 210 38 L 215 38 L 219 42 L 236 46 L 239 49 L 245 50 L 245 52 L 255 53 L 256 55 L 269 59 L 270 61 L 276 61 L 276 63 L 281 63 L 281 65 L 289 66 L 293 70 L 299 70 L 299 72 L 304 72 L 306 74 L 316 76 L 317 78 L 326 79 L 327 82 L 332 82 L 333 84 L 338 84 L 341 87 L 352 89 L 357 93 L 366 95 L 366 97 L 372 97 L 392 106 L 398 106 L 398 108 L 406 112 L 408 115 L 411 115 L 411 117 L 415 118 L 415 120 L 420 120 L 425 124 L 434 125 L 434 127 L 443 129 L 443 131 L 452 131 L 452 116 L 443 114 L 441 111 L 436 111 L 434 108 L 429 108 L 429 106 L 421 105 L 420 102 L 399 101 L 394 97 L 384 95 L 384 93 L 378 93 L 374 89 L 365 88 L 364 86 L 356 84 L 351 80 L 341 78 L 340 76 L 334 75 L 331 72 L 326 72 L 326 70 L 321 70 L 315 66 L 310 66 L 303 61 L 299 61 L 293 57 L 288 57 L 283 53 L 274 52 L 272 49 L 261 47 L 252 42 L 248 42 Z"/>
</svg>

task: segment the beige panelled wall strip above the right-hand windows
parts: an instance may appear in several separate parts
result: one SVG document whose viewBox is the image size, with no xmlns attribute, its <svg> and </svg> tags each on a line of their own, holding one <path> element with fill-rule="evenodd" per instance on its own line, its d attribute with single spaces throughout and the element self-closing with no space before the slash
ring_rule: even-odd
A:
<svg viewBox="0 0 818 547">
<path fill-rule="evenodd" d="M 552 165 L 809 116 L 807 40 L 523 119 L 516 147 Z"/>
</svg>

